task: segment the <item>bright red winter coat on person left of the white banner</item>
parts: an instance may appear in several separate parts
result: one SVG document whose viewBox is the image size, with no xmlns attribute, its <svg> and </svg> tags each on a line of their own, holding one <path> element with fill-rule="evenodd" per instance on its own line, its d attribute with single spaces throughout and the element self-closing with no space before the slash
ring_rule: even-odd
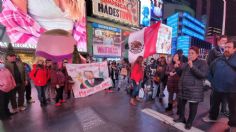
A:
<svg viewBox="0 0 236 132">
<path fill-rule="evenodd" d="M 33 80 L 35 86 L 45 86 L 49 79 L 49 73 L 46 68 L 36 68 L 33 65 L 33 70 L 30 72 L 30 78 Z"/>
</svg>

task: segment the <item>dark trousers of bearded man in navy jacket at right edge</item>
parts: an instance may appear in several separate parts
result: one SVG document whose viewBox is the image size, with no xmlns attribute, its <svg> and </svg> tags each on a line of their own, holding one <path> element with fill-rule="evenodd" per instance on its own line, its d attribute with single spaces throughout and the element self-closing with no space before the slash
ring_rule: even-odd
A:
<svg viewBox="0 0 236 132">
<path fill-rule="evenodd" d="M 229 126 L 236 127 L 236 93 L 222 93 L 213 91 L 209 118 L 217 120 L 220 110 L 220 103 L 227 99 L 229 105 Z"/>
</svg>

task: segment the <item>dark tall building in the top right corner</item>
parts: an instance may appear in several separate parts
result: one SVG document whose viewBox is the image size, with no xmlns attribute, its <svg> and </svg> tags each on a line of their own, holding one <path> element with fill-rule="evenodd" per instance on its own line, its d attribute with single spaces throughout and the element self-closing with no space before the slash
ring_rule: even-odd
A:
<svg viewBox="0 0 236 132">
<path fill-rule="evenodd" d="M 226 0 L 226 35 L 236 36 L 236 0 Z M 223 0 L 191 0 L 191 7 L 199 20 L 206 21 L 207 36 L 221 35 L 223 24 Z"/>
</svg>

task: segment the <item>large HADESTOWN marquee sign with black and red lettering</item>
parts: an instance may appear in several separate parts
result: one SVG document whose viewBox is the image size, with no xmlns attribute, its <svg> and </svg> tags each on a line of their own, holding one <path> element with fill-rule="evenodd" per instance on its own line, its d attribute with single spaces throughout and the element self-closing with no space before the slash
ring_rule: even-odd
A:
<svg viewBox="0 0 236 132">
<path fill-rule="evenodd" d="M 92 2 L 95 16 L 139 26 L 138 0 L 93 0 Z"/>
</svg>

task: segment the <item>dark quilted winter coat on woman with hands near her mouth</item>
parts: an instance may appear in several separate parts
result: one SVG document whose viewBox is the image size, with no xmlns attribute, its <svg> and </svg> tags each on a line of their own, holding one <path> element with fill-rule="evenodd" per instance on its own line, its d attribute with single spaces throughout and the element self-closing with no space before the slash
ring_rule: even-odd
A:
<svg viewBox="0 0 236 132">
<path fill-rule="evenodd" d="M 203 80 L 208 75 L 208 65 L 206 61 L 197 59 L 190 68 L 184 63 L 180 69 L 177 69 L 181 77 L 179 80 L 178 97 L 188 101 L 202 102 Z"/>
</svg>

